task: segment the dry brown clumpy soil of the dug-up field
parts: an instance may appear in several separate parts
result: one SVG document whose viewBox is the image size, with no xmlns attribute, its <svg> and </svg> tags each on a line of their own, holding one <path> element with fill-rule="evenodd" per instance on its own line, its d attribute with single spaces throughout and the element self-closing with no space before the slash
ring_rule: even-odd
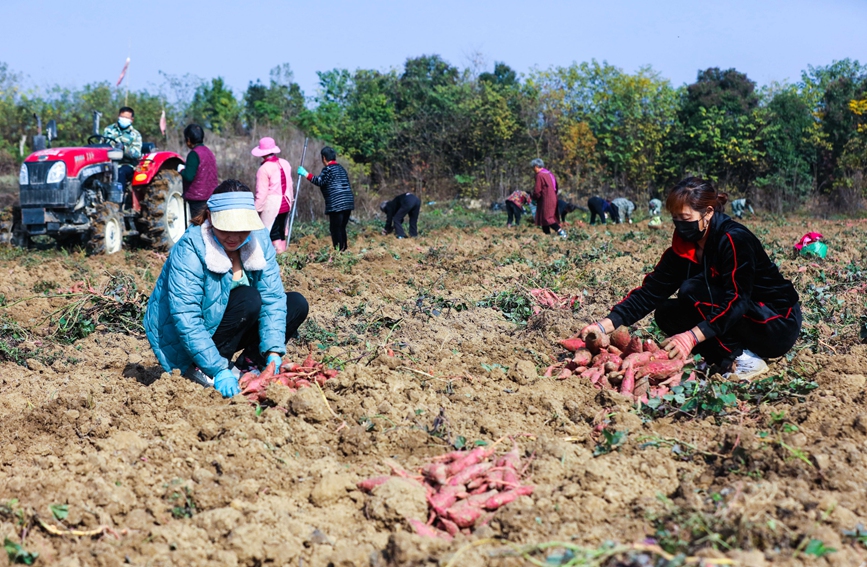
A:
<svg viewBox="0 0 867 567">
<path fill-rule="evenodd" d="M 867 346 L 857 324 L 867 312 L 867 224 L 747 224 L 775 251 L 807 314 L 793 356 L 771 370 L 818 387 L 701 418 L 650 419 L 577 378 L 540 377 L 567 354 L 557 339 L 605 315 L 665 249 L 670 234 L 643 224 L 572 226 L 565 242 L 529 226 L 415 240 L 366 228 L 330 261 L 320 253 L 327 235 L 307 236 L 287 255 L 284 282 L 309 299 L 315 325 L 288 358 L 300 362 L 312 348 L 342 371 L 323 394 L 276 392 L 278 405 L 260 411 L 163 373 L 143 334 L 97 326 L 63 344 L 50 316 L 67 300 L 33 299 L 34 289 L 100 284 L 117 270 L 147 293 L 163 256 L 4 253 L 0 311 L 33 333 L 20 345 L 33 354 L 26 365 L 0 363 L 0 503 L 17 499 L 0 513 L 0 531 L 13 542 L 24 534 L 37 565 L 70 567 L 526 565 L 510 545 L 648 543 L 662 529 L 680 531 L 690 553 L 743 565 L 863 564 L 867 548 L 843 530 L 867 525 Z M 825 235 L 825 261 L 789 252 L 807 230 Z M 558 293 L 582 298 L 574 312 L 545 309 L 516 325 L 485 306 L 492 294 L 544 281 L 557 262 L 569 263 Z M 827 285 L 823 274 L 837 274 L 829 289 L 840 304 L 817 317 L 806 299 Z M 636 327 L 648 330 L 649 319 Z M 600 415 L 628 435 L 594 457 Z M 356 489 L 388 474 L 390 460 L 413 470 L 453 444 L 503 436 L 517 436 L 532 459 L 536 490 L 470 537 L 412 534 L 406 517 L 427 518 L 411 482 L 389 481 L 373 495 Z M 49 511 L 56 504 L 68 505 L 62 523 Z M 52 535 L 34 515 L 109 529 Z M 704 541 L 696 522 L 713 526 Z M 735 545 L 715 545 L 712 533 Z M 805 553 L 813 539 L 836 551 Z"/>
</svg>

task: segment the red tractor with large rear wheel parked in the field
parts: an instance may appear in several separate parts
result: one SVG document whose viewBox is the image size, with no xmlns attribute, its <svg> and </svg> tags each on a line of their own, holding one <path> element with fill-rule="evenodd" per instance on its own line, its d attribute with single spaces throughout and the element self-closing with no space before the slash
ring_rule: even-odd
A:
<svg viewBox="0 0 867 567">
<path fill-rule="evenodd" d="M 21 164 L 20 216 L 12 242 L 48 235 L 58 243 L 84 243 L 91 254 L 114 254 L 125 239 L 168 250 L 187 226 L 178 154 L 142 144 L 131 187 L 117 182 L 123 150 L 99 134 L 78 148 L 34 152 Z"/>
</svg>

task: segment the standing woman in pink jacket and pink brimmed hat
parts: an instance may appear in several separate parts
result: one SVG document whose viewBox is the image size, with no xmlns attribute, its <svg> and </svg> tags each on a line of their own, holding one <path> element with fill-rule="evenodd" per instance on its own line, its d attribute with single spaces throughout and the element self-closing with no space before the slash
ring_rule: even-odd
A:
<svg viewBox="0 0 867 567">
<path fill-rule="evenodd" d="M 256 211 L 265 229 L 271 232 L 271 243 L 279 254 L 286 250 L 286 222 L 295 200 L 292 166 L 277 157 L 280 148 L 274 138 L 262 138 L 250 153 L 262 158 L 256 173 Z"/>
</svg>

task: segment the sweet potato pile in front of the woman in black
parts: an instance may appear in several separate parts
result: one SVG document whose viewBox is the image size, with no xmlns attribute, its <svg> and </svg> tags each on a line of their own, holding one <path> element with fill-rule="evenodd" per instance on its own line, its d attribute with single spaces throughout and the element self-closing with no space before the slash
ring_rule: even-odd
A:
<svg viewBox="0 0 867 567">
<path fill-rule="evenodd" d="M 611 335 L 590 333 L 584 340 L 564 339 L 560 345 L 575 355 L 565 363 L 549 366 L 545 376 L 556 375 L 561 380 L 580 376 L 595 388 L 616 390 L 634 401 L 646 402 L 667 394 L 680 384 L 684 364 L 688 363 L 669 360 L 656 341 L 631 337 L 626 327 Z M 694 378 L 690 374 L 687 379 Z"/>
</svg>

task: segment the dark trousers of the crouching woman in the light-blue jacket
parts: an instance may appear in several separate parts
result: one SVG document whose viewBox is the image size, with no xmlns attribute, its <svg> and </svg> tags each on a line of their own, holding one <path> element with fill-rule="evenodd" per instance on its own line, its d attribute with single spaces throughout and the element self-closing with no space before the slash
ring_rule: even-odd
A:
<svg viewBox="0 0 867 567">
<path fill-rule="evenodd" d="M 304 296 L 298 292 L 286 293 L 286 342 L 301 323 L 307 319 L 309 306 Z M 212 337 L 220 356 L 232 360 L 235 353 L 243 350 L 242 356 L 249 358 L 254 364 L 262 366 L 265 357 L 259 352 L 259 312 L 262 310 L 262 298 L 254 287 L 236 287 L 229 293 L 229 303 L 226 312 Z"/>
</svg>

